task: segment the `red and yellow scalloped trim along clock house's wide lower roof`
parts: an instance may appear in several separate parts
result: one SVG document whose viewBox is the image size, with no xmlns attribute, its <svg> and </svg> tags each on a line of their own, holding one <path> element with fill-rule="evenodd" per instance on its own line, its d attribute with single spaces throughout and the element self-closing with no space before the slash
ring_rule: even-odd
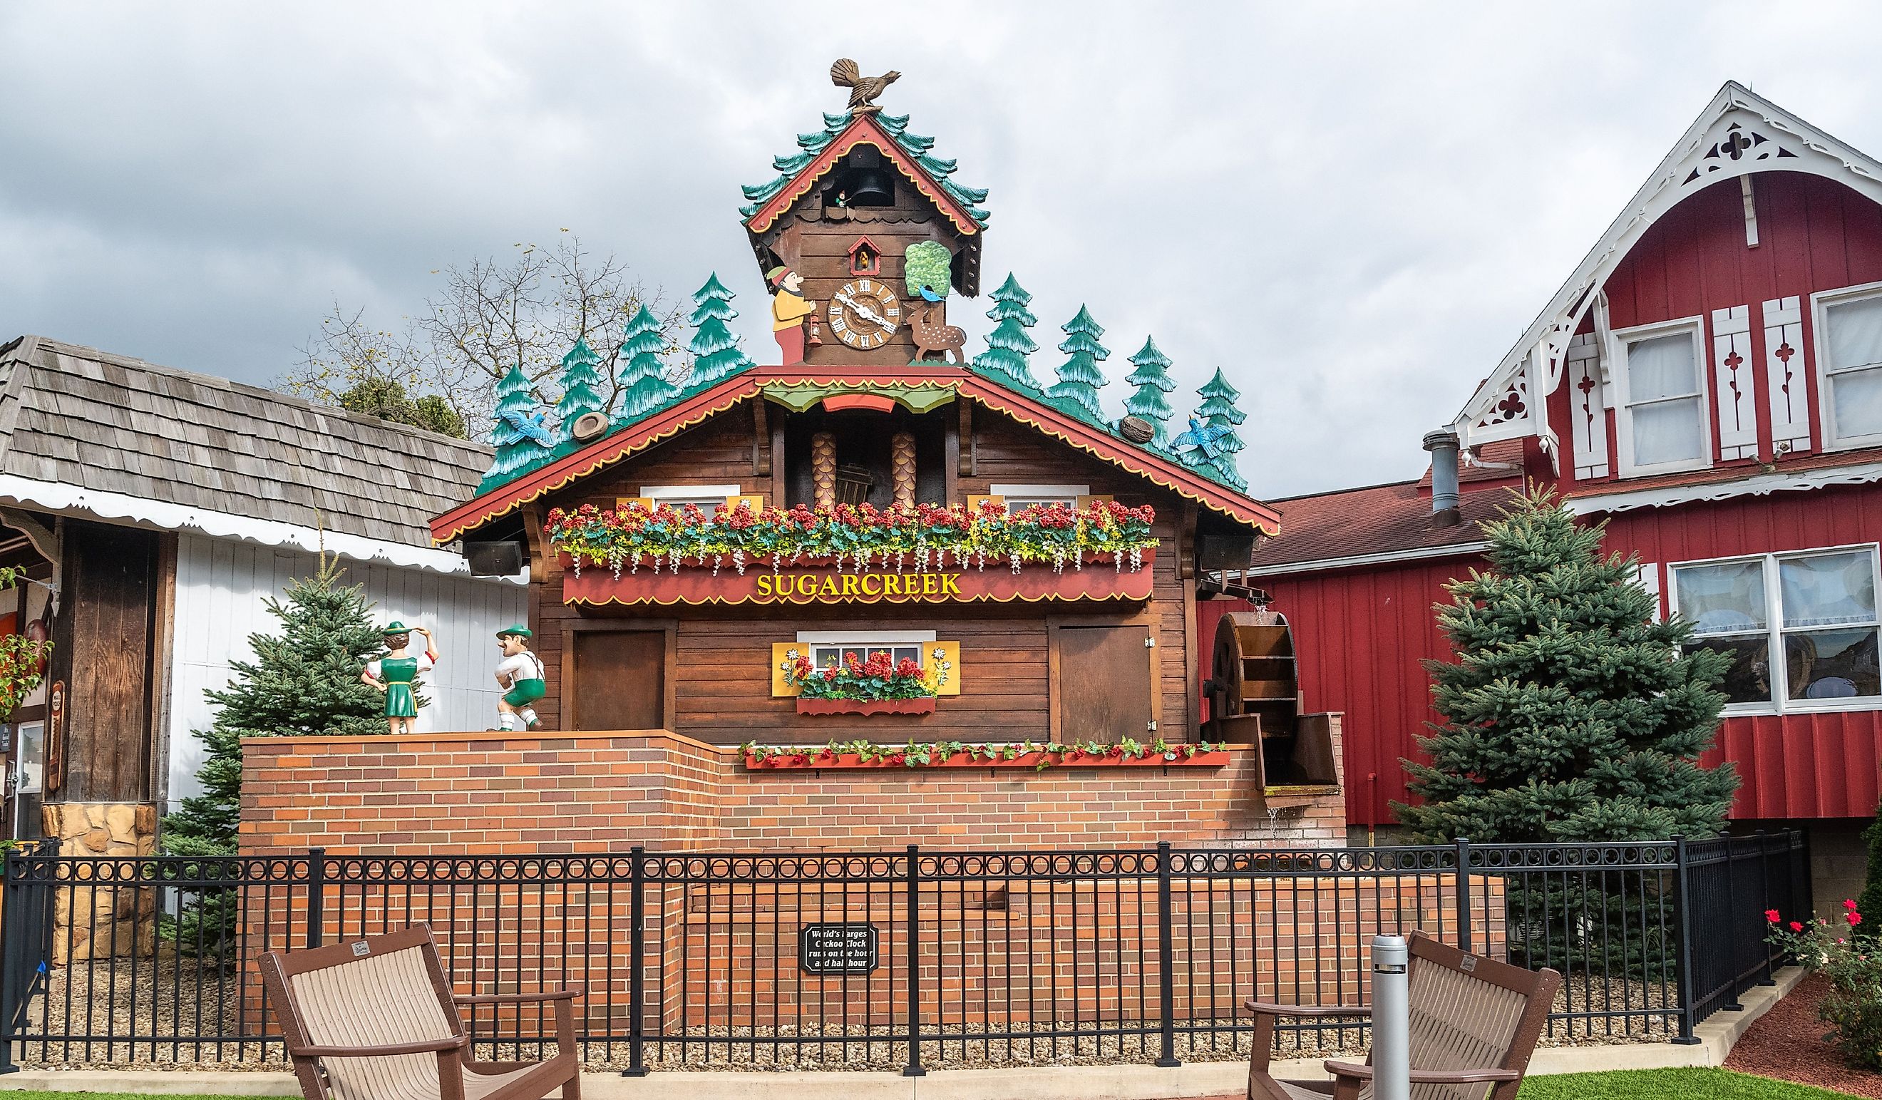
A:
<svg viewBox="0 0 1882 1100">
<path fill-rule="evenodd" d="M 470 499 L 450 512 L 444 512 L 431 522 L 431 541 L 450 542 L 469 531 L 482 527 L 484 524 L 506 516 L 516 509 L 527 505 L 529 501 L 542 499 L 544 495 L 600 471 L 606 465 L 621 461 L 647 446 L 678 435 L 679 431 L 693 428 L 694 424 L 725 412 L 732 405 L 738 405 L 745 397 L 758 394 L 766 382 L 809 382 L 817 386 L 879 386 L 892 382 L 930 382 L 937 386 L 952 386 L 960 394 L 981 401 L 988 409 L 996 409 L 1013 416 L 1014 420 L 1037 428 L 1039 431 L 1077 446 L 1086 454 L 1101 458 L 1112 465 L 1124 467 L 1129 473 L 1148 478 L 1182 497 L 1206 505 L 1218 512 L 1223 512 L 1235 520 L 1261 527 L 1268 535 L 1280 531 L 1280 512 L 1238 493 L 1231 488 L 1218 486 L 1216 482 L 1188 471 L 1165 458 L 1139 450 L 1124 441 L 1114 439 L 1110 433 L 1092 428 L 1082 420 L 1075 420 L 1056 409 L 1041 405 L 1029 397 L 1022 397 L 996 382 L 988 382 L 979 375 L 971 375 L 962 367 L 924 364 L 922 371 L 898 375 L 894 367 L 822 367 L 821 373 L 815 367 L 755 367 L 734 379 L 726 379 L 719 386 L 698 394 L 679 405 L 657 412 L 640 424 L 617 431 L 606 439 L 598 439 L 589 446 L 561 458 L 534 473 L 523 475 L 521 478 L 491 490 L 476 499 Z"/>
</svg>

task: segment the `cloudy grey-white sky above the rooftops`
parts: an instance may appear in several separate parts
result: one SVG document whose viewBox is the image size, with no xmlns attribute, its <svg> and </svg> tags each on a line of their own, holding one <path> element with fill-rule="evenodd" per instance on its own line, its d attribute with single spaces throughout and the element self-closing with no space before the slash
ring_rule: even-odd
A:
<svg viewBox="0 0 1882 1100">
<path fill-rule="evenodd" d="M 1229 373 L 1257 495 L 1415 477 L 1722 81 L 1882 153 L 1882 8 L 1568 11 L 8 4 L 0 339 L 265 384 L 331 301 L 397 326 L 437 267 L 568 228 L 668 294 L 717 269 L 770 358 L 738 185 L 843 104 L 843 55 L 992 188 L 1035 369 L 1086 303 L 1114 379 L 1156 335 L 1178 411 Z"/>
</svg>

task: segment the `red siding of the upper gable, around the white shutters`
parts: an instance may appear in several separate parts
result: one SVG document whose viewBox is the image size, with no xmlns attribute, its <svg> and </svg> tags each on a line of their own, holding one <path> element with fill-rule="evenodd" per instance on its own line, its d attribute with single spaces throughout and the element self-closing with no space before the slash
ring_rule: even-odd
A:
<svg viewBox="0 0 1882 1100">
<path fill-rule="evenodd" d="M 1662 217 L 1634 245 L 1607 277 L 1609 324 L 1634 328 L 1686 316 L 1705 318 L 1705 348 L 1711 356 L 1713 311 L 1750 307 L 1752 382 L 1760 426 L 1762 456 L 1771 456 L 1771 412 L 1767 407 L 1763 315 L 1765 301 L 1799 296 L 1803 311 L 1803 362 L 1810 392 L 1810 426 L 1822 429 L 1816 405 L 1816 332 L 1809 311 L 1810 294 L 1882 281 L 1882 207 L 1841 183 L 1795 171 L 1767 171 L 1754 177 L 1758 209 L 1758 247 L 1745 243 L 1745 202 L 1735 179 L 1716 183 Z M 1592 318 L 1583 332 L 1592 330 Z M 1711 362 L 1703 365 L 1705 386 L 1715 384 Z M 1549 422 L 1570 424 L 1568 386 L 1549 396 Z M 1718 403 L 1711 401 L 1716 446 Z M 1619 477 L 1613 454 L 1619 433 L 1607 412 L 1609 477 Z M 1564 439 L 1564 446 L 1571 446 Z M 1716 450 L 1715 450 L 1716 454 Z M 1737 460 L 1722 465 L 1750 465 Z M 1573 461 L 1562 463 L 1562 482 L 1588 492 L 1600 482 L 1573 484 Z"/>
</svg>

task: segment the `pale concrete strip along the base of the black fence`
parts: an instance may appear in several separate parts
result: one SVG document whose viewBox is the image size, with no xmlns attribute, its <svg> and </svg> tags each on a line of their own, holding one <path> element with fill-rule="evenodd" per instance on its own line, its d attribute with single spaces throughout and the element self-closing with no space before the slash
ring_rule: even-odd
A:
<svg viewBox="0 0 1882 1100">
<path fill-rule="evenodd" d="M 1722 1066 L 1731 1045 L 1797 981 L 1803 970 L 1777 974 L 1777 985 L 1754 987 L 1739 1000 L 1743 1011 L 1718 1011 L 1696 1028 L 1694 1045 L 1626 1043 L 1613 1047 L 1541 1047 L 1532 1074 L 1587 1074 L 1594 1070 L 1660 1070 L 1667 1066 Z M 1278 1077 L 1323 1079 L 1319 1059 L 1274 1062 Z M 158 1092 L 169 1096 L 299 1096 L 292 1074 L 152 1072 L 152 1070 L 23 1070 L 0 1077 L 0 1091 L 45 1092 Z M 1156 1066 L 1026 1066 L 1011 1070 L 933 1070 L 926 1077 L 886 1072 L 864 1074 L 745 1074 L 657 1072 L 647 1077 L 585 1074 L 587 1100 L 1189 1100 L 1240 1096 L 1248 1089 L 1248 1062 L 1191 1062 L 1174 1070 Z"/>
</svg>

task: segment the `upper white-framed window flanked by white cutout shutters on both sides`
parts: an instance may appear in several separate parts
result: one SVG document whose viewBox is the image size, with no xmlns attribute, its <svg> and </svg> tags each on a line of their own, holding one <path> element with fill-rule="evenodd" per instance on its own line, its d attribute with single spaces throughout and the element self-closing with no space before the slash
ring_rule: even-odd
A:
<svg viewBox="0 0 1882 1100">
<path fill-rule="evenodd" d="M 1699 318 L 1615 333 L 1622 360 L 1620 473 L 1699 469 L 1711 460 Z"/>
</svg>

